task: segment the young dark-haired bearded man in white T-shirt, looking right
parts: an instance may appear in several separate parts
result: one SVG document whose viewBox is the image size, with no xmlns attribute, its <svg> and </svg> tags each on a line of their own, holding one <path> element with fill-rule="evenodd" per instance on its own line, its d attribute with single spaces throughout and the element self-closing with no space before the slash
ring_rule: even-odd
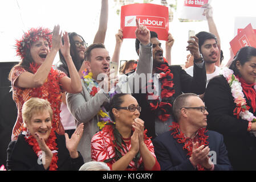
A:
<svg viewBox="0 0 256 182">
<path fill-rule="evenodd" d="M 206 68 L 206 86 L 210 79 L 214 76 L 220 75 L 220 67 L 217 67 L 215 63 L 220 59 L 220 50 L 218 49 L 217 38 L 215 35 L 209 32 L 199 32 L 197 35 L 199 50 L 205 61 Z M 193 76 L 193 67 L 185 69 L 185 71 Z"/>
</svg>

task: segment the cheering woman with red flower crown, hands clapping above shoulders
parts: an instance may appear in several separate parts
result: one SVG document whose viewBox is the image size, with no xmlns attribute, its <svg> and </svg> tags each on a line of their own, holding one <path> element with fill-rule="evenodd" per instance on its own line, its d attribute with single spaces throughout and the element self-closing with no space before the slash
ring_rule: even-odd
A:
<svg viewBox="0 0 256 182">
<path fill-rule="evenodd" d="M 58 134 L 64 134 L 59 117 L 61 92 L 79 93 L 82 90 L 82 84 L 70 56 L 68 34 L 64 33 L 64 44 L 62 44 L 62 33 L 59 33 L 59 29 L 59 26 L 55 26 L 51 32 L 48 28 L 31 28 L 21 40 L 17 40 L 16 52 L 22 60 L 11 69 L 9 75 L 13 100 L 18 109 L 11 140 L 17 139 L 22 131 L 22 105 L 31 97 L 43 98 L 51 103 L 54 111 L 52 128 Z M 65 73 L 52 68 L 59 49 L 67 61 L 70 78 Z"/>
</svg>

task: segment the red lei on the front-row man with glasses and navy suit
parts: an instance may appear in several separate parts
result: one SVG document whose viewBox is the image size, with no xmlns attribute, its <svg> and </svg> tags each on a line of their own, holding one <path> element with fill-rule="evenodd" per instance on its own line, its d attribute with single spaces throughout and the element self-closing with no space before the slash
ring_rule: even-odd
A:
<svg viewBox="0 0 256 182">
<path fill-rule="evenodd" d="M 174 130 L 172 135 L 174 139 L 177 139 L 178 143 L 184 143 L 183 146 L 183 150 L 187 150 L 188 151 L 188 156 L 191 157 L 192 156 L 192 150 L 193 150 L 193 143 L 191 140 L 189 140 L 189 138 L 186 138 L 184 133 L 182 133 L 180 131 L 180 126 L 178 125 L 178 123 L 176 122 L 172 122 L 172 125 L 169 126 L 171 129 L 170 130 Z M 204 145 L 207 146 L 209 144 L 208 141 L 206 141 L 206 139 L 209 138 L 209 136 L 206 136 L 205 133 L 208 130 L 206 130 L 205 128 L 201 128 L 198 130 L 198 137 L 199 137 L 199 147 Z M 202 167 L 200 164 L 197 164 L 197 169 L 198 171 L 204 171 L 205 168 Z"/>
</svg>

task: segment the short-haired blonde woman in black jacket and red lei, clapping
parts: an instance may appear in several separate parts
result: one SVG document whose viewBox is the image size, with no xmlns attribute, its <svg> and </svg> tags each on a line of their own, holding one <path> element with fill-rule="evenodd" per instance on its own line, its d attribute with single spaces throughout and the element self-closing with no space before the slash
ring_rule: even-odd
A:
<svg viewBox="0 0 256 182">
<path fill-rule="evenodd" d="M 58 135 L 51 125 L 53 111 L 50 102 L 30 98 L 22 108 L 25 123 L 22 134 L 11 141 L 7 149 L 7 169 L 32 171 L 76 170 L 83 165 L 83 157 L 77 151 L 83 135 L 83 123 L 71 138 Z"/>
</svg>

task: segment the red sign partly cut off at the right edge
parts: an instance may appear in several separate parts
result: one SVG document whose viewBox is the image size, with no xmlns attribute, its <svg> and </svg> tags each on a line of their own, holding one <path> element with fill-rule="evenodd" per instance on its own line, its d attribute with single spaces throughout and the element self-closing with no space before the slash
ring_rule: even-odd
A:
<svg viewBox="0 0 256 182">
<path fill-rule="evenodd" d="M 251 23 L 241 30 L 233 40 L 231 40 L 230 46 L 234 55 L 242 47 L 251 46 L 256 48 L 256 34 Z"/>
</svg>

